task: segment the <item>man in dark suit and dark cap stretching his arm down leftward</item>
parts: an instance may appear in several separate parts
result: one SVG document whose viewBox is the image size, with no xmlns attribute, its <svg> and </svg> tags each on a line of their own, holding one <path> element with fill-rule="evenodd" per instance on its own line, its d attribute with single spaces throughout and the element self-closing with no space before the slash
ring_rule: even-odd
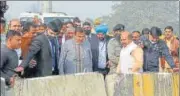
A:
<svg viewBox="0 0 180 96">
<path fill-rule="evenodd" d="M 62 27 L 62 22 L 53 20 L 47 26 L 46 32 L 32 40 L 25 60 L 16 68 L 17 72 L 22 72 L 34 57 L 37 61 L 36 77 L 58 74 L 59 44 L 57 35 Z"/>
</svg>

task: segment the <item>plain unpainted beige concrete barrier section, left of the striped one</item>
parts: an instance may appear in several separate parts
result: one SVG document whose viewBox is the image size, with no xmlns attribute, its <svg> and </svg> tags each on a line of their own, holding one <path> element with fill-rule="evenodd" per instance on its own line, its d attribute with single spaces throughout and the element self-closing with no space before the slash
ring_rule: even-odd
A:
<svg viewBox="0 0 180 96">
<path fill-rule="evenodd" d="M 85 73 L 17 80 L 14 96 L 107 96 L 103 75 Z"/>
</svg>

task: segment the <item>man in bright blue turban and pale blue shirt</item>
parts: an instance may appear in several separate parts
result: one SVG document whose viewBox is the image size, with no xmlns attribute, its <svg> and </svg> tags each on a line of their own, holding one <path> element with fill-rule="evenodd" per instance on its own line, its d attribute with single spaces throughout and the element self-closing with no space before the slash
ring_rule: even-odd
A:
<svg viewBox="0 0 180 96">
<path fill-rule="evenodd" d="M 107 61 L 108 61 L 107 44 L 110 40 L 110 37 L 106 35 L 106 33 L 108 32 L 108 26 L 104 24 L 98 25 L 95 28 L 95 31 L 99 42 L 96 71 L 102 73 L 103 75 L 106 75 L 109 71 L 109 69 L 107 68 Z"/>
</svg>

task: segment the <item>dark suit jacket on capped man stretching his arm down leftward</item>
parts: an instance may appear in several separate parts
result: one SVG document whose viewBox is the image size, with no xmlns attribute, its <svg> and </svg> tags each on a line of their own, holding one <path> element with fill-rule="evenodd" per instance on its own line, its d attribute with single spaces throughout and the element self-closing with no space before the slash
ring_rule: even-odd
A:
<svg viewBox="0 0 180 96">
<path fill-rule="evenodd" d="M 27 67 L 30 60 L 34 57 L 37 62 L 37 72 L 35 74 L 37 77 L 52 75 L 51 44 L 45 34 L 38 35 L 32 40 L 28 54 L 21 64 L 22 67 Z M 58 41 L 56 43 L 58 43 Z M 56 48 L 56 55 L 59 62 L 59 48 Z"/>
</svg>

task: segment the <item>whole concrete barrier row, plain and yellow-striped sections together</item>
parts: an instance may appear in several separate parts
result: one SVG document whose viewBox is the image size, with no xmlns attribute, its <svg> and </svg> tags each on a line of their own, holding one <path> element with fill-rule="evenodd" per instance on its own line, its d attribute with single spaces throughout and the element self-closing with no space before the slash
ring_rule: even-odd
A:
<svg viewBox="0 0 180 96">
<path fill-rule="evenodd" d="M 179 96 L 180 74 L 98 73 L 17 80 L 14 96 Z"/>
</svg>

